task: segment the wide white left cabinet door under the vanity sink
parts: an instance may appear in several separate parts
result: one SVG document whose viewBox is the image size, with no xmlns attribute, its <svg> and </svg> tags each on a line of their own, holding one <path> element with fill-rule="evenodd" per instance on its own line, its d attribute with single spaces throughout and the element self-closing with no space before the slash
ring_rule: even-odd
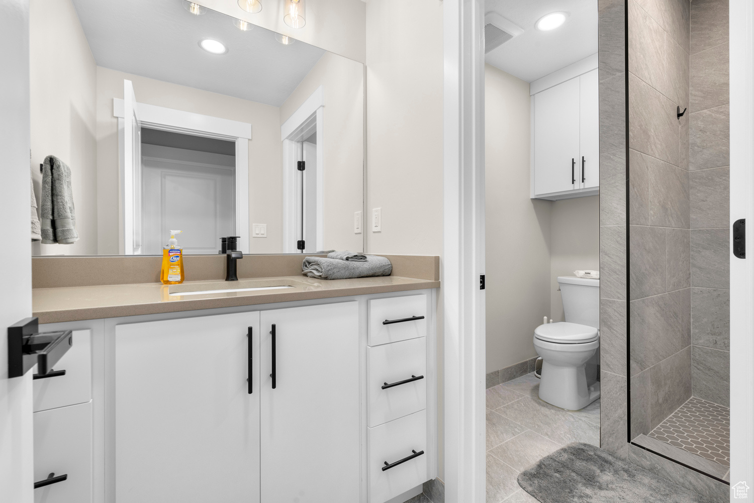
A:
<svg viewBox="0 0 754 503">
<path fill-rule="evenodd" d="M 251 312 L 115 328 L 117 503 L 259 501 L 258 327 Z"/>
</svg>

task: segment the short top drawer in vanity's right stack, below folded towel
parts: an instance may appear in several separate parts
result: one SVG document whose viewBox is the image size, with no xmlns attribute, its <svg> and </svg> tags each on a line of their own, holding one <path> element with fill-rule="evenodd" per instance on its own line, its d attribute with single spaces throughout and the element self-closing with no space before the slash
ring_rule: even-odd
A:
<svg viewBox="0 0 754 503">
<path fill-rule="evenodd" d="M 369 299 L 369 345 L 427 335 L 427 295 Z M 385 321 L 393 323 L 385 324 Z"/>
</svg>

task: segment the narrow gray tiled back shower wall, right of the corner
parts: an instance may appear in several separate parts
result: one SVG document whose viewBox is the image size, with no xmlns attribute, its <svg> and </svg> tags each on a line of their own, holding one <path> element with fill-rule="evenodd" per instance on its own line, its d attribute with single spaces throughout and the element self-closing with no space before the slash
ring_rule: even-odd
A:
<svg viewBox="0 0 754 503">
<path fill-rule="evenodd" d="M 730 406 L 728 0 L 691 2 L 691 387 Z"/>
</svg>

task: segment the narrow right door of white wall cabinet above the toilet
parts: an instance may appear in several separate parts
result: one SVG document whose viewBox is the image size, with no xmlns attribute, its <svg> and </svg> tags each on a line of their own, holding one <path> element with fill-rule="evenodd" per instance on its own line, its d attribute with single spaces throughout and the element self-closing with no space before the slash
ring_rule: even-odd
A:
<svg viewBox="0 0 754 503">
<path fill-rule="evenodd" d="M 579 77 L 581 79 L 580 114 L 580 173 L 577 181 L 581 189 L 599 187 L 599 78 L 597 70 Z"/>
</svg>

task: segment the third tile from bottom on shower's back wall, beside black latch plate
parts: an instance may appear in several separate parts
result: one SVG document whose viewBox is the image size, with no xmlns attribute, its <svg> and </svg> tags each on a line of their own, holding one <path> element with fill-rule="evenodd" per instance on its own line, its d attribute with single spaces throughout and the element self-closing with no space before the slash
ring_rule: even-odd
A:
<svg viewBox="0 0 754 503">
<path fill-rule="evenodd" d="M 691 286 L 730 288 L 728 228 L 691 229 Z"/>
</svg>

